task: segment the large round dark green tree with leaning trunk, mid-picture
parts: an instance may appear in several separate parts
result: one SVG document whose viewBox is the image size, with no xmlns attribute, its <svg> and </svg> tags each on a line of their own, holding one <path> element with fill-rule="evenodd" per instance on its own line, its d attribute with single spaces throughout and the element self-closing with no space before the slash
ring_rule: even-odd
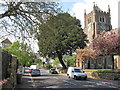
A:
<svg viewBox="0 0 120 90">
<path fill-rule="evenodd" d="M 36 35 L 40 54 L 57 56 L 65 69 L 62 56 L 71 55 L 77 48 L 86 46 L 86 35 L 78 21 L 68 13 L 60 13 L 40 25 L 39 33 Z"/>
</svg>

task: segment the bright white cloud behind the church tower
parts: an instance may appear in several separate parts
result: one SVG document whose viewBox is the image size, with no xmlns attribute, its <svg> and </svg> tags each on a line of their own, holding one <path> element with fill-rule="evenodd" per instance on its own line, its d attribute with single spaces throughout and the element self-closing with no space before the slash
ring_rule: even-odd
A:
<svg viewBox="0 0 120 90">
<path fill-rule="evenodd" d="M 84 27 L 84 9 L 86 9 L 86 13 L 90 13 L 93 10 L 93 2 L 97 4 L 97 6 L 103 10 L 108 10 L 108 5 L 110 5 L 111 9 L 111 24 L 113 28 L 118 28 L 118 2 L 120 0 L 84 0 L 84 2 L 76 2 L 71 15 L 76 16 L 76 18 L 81 20 L 82 27 Z"/>
</svg>

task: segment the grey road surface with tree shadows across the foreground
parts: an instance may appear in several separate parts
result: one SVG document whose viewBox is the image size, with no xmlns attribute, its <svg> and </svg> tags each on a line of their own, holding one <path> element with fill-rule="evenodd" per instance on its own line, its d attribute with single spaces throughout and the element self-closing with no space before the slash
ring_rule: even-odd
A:
<svg viewBox="0 0 120 90">
<path fill-rule="evenodd" d="M 109 84 L 97 79 L 74 80 L 65 74 L 49 74 L 48 70 L 41 70 L 41 76 L 31 77 L 25 74 L 22 83 L 17 88 L 111 88 L 118 89 L 118 86 Z M 109 89 L 110 90 L 110 89 Z"/>
</svg>

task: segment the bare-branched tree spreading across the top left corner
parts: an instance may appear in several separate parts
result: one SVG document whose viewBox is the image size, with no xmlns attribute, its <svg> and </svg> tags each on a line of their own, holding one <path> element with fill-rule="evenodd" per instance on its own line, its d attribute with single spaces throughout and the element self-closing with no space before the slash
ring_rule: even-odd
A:
<svg viewBox="0 0 120 90">
<path fill-rule="evenodd" d="M 0 28 L 4 34 L 29 39 L 39 24 L 60 12 L 57 2 L 15 2 L 0 3 Z M 22 36 L 22 37 L 21 37 Z M 1 38 L 4 37 L 3 35 Z"/>
</svg>

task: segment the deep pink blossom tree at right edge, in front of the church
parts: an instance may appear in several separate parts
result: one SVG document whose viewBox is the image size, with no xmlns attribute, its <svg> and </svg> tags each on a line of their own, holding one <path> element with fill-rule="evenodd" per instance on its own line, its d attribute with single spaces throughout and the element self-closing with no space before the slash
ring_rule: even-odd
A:
<svg viewBox="0 0 120 90">
<path fill-rule="evenodd" d="M 120 28 L 108 32 L 104 31 L 98 35 L 98 37 L 93 40 L 93 49 L 99 51 L 99 54 L 105 57 L 104 68 L 106 68 L 106 56 L 120 54 Z"/>
</svg>

